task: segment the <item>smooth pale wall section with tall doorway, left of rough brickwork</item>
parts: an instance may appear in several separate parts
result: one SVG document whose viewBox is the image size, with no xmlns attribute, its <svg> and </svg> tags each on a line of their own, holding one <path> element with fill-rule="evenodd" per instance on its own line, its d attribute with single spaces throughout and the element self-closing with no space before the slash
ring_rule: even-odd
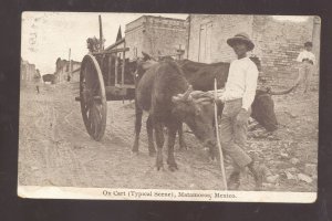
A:
<svg viewBox="0 0 332 221">
<path fill-rule="evenodd" d="M 227 44 L 227 39 L 239 32 L 252 34 L 252 15 L 230 14 L 190 14 L 189 15 L 189 49 L 188 59 L 205 63 L 230 62 L 236 59 L 232 49 Z M 211 24 L 211 33 L 204 36 L 204 28 Z M 204 39 L 206 39 L 204 44 Z M 204 45 L 207 56 L 201 56 Z"/>
</svg>

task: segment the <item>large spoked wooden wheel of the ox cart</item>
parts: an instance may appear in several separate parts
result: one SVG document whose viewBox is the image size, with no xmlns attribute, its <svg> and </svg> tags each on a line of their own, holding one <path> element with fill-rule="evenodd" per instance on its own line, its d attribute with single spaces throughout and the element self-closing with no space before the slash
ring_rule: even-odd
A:
<svg viewBox="0 0 332 221">
<path fill-rule="evenodd" d="M 101 140 L 106 127 L 106 93 L 101 67 L 91 54 L 84 56 L 81 65 L 80 102 L 89 135 L 95 140 Z"/>
</svg>

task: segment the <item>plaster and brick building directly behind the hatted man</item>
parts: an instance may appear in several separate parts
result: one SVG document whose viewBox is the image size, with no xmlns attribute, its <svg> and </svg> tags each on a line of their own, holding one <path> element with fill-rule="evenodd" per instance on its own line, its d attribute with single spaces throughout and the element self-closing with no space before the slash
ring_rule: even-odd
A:
<svg viewBox="0 0 332 221">
<path fill-rule="evenodd" d="M 295 59 L 307 41 L 313 42 L 319 57 L 320 20 L 278 20 L 272 15 L 190 14 L 188 17 L 188 59 L 197 62 L 230 62 L 235 60 L 228 38 L 239 32 L 250 35 L 256 46 L 249 55 L 261 61 L 261 73 L 268 80 L 294 78 Z"/>
</svg>

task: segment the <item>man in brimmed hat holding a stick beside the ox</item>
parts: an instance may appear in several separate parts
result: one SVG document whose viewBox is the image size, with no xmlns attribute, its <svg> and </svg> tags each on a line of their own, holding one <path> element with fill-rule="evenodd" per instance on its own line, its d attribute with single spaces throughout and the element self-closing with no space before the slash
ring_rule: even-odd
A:
<svg viewBox="0 0 332 221">
<path fill-rule="evenodd" d="M 262 185 L 262 172 L 246 152 L 248 119 L 251 114 L 251 104 L 255 98 L 258 70 L 247 56 L 247 52 L 255 48 L 247 33 L 236 34 L 227 40 L 237 60 L 231 62 L 225 92 L 219 96 L 225 107 L 221 116 L 221 147 L 234 161 L 234 171 L 228 179 L 230 189 L 240 186 L 240 173 L 247 167 L 256 181 L 256 189 Z"/>
</svg>

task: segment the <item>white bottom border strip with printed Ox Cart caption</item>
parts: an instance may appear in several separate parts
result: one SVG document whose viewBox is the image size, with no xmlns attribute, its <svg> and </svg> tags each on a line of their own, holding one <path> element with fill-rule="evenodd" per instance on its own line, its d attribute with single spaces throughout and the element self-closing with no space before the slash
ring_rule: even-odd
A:
<svg viewBox="0 0 332 221">
<path fill-rule="evenodd" d="M 18 196 L 33 199 L 149 200 L 210 202 L 313 203 L 317 192 L 164 190 L 19 186 Z"/>
</svg>

